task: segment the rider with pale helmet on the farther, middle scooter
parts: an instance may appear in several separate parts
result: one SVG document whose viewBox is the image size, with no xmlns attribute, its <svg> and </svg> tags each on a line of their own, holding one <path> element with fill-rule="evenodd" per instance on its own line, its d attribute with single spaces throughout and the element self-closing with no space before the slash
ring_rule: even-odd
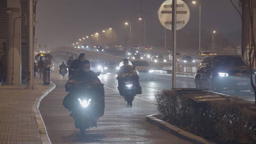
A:
<svg viewBox="0 0 256 144">
<path fill-rule="evenodd" d="M 122 95 L 122 81 L 125 77 L 130 76 L 136 81 L 137 83 L 137 93 L 136 94 L 141 94 L 141 86 L 139 84 L 139 76 L 137 74 L 137 71 L 134 66 L 129 65 L 128 59 L 123 60 L 123 66 L 120 67 L 117 80 L 118 80 L 118 90 L 120 95 Z"/>
</svg>

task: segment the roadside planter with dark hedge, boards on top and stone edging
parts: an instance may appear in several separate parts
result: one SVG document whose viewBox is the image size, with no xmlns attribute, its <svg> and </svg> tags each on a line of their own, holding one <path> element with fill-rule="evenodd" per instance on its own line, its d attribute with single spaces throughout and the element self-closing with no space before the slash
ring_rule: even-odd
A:
<svg viewBox="0 0 256 144">
<path fill-rule="evenodd" d="M 156 105 L 163 117 L 148 116 L 147 120 L 153 124 L 168 122 L 166 126 L 182 129 L 184 135 L 178 130 L 177 136 L 192 143 L 256 144 L 256 111 L 250 109 L 252 102 L 203 90 L 174 89 L 159 92 Z M 165 125 L 158 126 L 172 131 Z"/>
</svg>

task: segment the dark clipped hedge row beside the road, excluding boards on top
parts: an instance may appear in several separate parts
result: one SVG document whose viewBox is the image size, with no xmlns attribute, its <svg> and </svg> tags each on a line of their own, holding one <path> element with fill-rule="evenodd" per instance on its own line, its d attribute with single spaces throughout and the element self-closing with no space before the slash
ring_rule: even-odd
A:
<svg viewBox="0 0 256 144">
<path fill-rule="evenodd" d="M 218 144 L 256 144 L 256 111 L 248 103 L 195 102 L 174 90 L 158 93 L 156 102 L 164 120 L 192 134 Z"/>
</svg>

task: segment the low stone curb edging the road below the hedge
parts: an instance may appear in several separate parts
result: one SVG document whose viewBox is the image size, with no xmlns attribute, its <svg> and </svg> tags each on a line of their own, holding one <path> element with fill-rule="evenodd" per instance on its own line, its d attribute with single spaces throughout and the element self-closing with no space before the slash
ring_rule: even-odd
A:
<svg viewBox="0 0 256 144">
<path fill-rule="evenodd" d="M 179 138 L 182 138 L 184 140 L 192 142 L 193 144 L 215 144 L 215 143 L 207 141 L 206 139 L 204 139 L 200 136 L 193 135 L 189 132 L 186 132 L 177 126 L 171 125 L 170 123 L 168 123 L 166 121 L 158 119 L 155 117 L 156 115 L 159 115 L 159 114 L 146 116 L 146 121 L 155 126 L 158 126 L 159 128 L 167 131 L 168 133 L 171 133 L 173 135 L 176 135 Z"/>
</svg>

